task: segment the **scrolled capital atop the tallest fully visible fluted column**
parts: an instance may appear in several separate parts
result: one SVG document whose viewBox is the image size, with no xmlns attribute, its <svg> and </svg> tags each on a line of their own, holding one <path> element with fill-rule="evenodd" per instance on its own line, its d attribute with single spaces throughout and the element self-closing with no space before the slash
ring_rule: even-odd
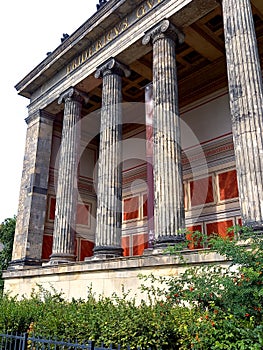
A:
<svg viewBox="0 0 263 350">
<path fill-rule="evenodd" d="M 184 42 L 184 33 L 176 28 L 170 21 L 168 21 L 168 19 L 165 19 L 145 33 L 145 36 L 142 39 L 142 44 L 147 45 L 150 42 L 154 42 L 164 37 L 170 37 L 178 44 Z"/>
</svg>

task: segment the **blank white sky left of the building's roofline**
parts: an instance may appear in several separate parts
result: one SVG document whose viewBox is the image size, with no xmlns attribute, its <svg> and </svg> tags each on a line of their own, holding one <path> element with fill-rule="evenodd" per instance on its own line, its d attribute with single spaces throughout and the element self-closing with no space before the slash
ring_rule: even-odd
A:
<svg viewBox="0 0 263 350">
<path fill-rule="evenodd" d="M 17 214 L 27 105 L 14 86 L 96 12 L 99 0 L 9 0 L 0 11 L 0 223 Z"/>
</svg>

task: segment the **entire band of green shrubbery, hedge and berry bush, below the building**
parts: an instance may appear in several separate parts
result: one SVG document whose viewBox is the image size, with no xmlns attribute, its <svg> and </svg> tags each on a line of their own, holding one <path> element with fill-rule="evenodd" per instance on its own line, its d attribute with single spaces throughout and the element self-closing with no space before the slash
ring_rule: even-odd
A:
<svg viewBox="0 0 263 350">
<path fill-rule="evenodd" d="M 71 301 L 41 287 L 28 299 L 3 295 L 0 332 L 93 340 L 96 345 L 104 342 L 131 349 L 262 349 L 263 241 L 253 232 L 243 229 L 240 237 L 240 228 L 235 230 L 229 238 L 209 240 L 210 251 L 225 256 L 228 267 L 188 268 L 185 261 L 180 276 L 141 277 L 151 283 L 150 287 L 142 285 L 148 300 L 139 305 L 129 294 L 95 298 L 92 290 L 86 300 Z M 200 239 L 207 237 L 200 238 L 198 233 Z M 169 251 L 181 254 L 182 248 L 177 245 Z"/>
</svg>

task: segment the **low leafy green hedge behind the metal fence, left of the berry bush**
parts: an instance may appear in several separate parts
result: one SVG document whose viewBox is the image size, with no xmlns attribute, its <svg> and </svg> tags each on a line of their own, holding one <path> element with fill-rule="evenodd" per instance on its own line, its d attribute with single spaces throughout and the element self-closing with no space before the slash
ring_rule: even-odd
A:
<svg viewBox="0 0 263 350">
<path fill-rule="evenodd" d="M 63 299 L 60 293 L 41 290 L 31 298 L 3 296 L 0 303 L 0 332 L 29 332 L 44 338 L 104 342 L 131 349 L 179 349 L 184 332 L 182 320 L 192 311 L 172 307 L 167 301 L 135 304 L 127 295 L 87 300 Z M 180 324 L 179 324 L 180 323 Z M 182 325 L 181 325 L 182 323 Z"/>
</svg>

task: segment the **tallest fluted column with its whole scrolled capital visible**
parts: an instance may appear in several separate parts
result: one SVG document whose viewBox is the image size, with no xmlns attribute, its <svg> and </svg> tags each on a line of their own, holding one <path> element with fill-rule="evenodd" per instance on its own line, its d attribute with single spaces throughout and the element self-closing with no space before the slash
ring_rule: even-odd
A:
<svg viewBox="0 0 263 350">
<path fill-rule="evenodd" d="M 184 239 L 185 226 L 181 164 L 181 136 L 178 108 L 176 45 L 180 33 L 164 20 L 146 33 L 143 44 L 153 45 L 154 128 L 154 227 L 163 247 Z"/>
</svg>

